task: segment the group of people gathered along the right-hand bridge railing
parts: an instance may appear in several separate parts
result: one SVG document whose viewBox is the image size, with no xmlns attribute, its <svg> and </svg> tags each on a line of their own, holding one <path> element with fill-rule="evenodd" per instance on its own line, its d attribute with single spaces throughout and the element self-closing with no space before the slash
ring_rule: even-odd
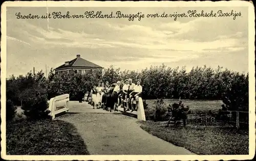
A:
<svg viewBox="0 0 256 161">
<path fill-rule="evenodd" d="M 117 111 L 117 106 L 121 105 L 124 111 L 136 111 L 137 103 L 133 102 L 142 96 L 140 79 L 136 83 L 135 85 L 131 78 L 112 85 L 109 82 L 99 83 L 98 86 L 93 86 L 91 92 L 86 93 L 84 100 L 88 101 L 93 109 L 96 107 L 112 112 Z"/>
</svg>

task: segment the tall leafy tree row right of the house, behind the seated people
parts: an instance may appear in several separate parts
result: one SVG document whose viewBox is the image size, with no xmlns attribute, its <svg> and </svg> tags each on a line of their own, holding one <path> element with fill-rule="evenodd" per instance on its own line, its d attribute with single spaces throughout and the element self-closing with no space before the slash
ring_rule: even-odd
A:
<svg viewBox="0 0 256 161">
<path fill-rule="evenodd" d="M 228 97 L 232 100 L 239 98 L 236 99 L 239 106 L 248 105 L 248 73 L 223 70 L 222 67 L 195 67 L 189 72 L 185 67 L 167 68 L 164 64 L 146 68 L 141 72 L 120 71 L 110 67 L 103 75 L 103 81 L 109 82 L 126 78 L 141 79 L 144 99 L 181 97 L 222 100 Z"/>
</svg>

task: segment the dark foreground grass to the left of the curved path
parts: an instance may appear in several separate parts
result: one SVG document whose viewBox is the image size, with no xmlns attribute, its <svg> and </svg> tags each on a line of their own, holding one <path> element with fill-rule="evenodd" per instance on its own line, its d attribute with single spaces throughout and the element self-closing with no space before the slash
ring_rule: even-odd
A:
<svg viewBox="0 0 256 161">
<path fill-rule="evenodd" d="M 88 155 L 76 128 L 61 120 L 9 122 L 7 155 Z"/>
</svg>

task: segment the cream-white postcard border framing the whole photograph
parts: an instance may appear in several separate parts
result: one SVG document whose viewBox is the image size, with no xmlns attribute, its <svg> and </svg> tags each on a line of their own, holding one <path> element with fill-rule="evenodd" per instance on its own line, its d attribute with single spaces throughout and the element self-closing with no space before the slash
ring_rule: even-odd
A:
<svg viewBox="0 0 256 161">
<path fill-rule="evenodd" d="M 249 42 L 249 155 L 6 155 L 6 7 L 248 7 Z M 97 1 L 32 1 L 5 2 L 1 10 L 1 156 L 7 160 L 243 160 L 255 153 L 255 26 L 254 7 L 246 1 L 195 2 L 97 2 Z"/>
</svg>

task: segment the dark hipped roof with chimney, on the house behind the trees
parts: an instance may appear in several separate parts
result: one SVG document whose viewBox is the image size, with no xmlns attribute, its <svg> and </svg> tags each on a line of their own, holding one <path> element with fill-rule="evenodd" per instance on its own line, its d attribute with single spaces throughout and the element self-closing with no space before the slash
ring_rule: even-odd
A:
<svg viewBox="0 0 256 161">
<path fill-rule="evenodd" d="M 75 59 L 65 62 L 65 64 L 62 64 L 61 66 L 57 67 L 56 69 L 71 68 L 71 67 L 86 67 L 86 68 L 101 68 L 101 69 L 103 69 L 103 67 L 101 67 L 97 64 L 94 64 L 92 62 L 89 62 L 87 60 L 80 58 L 80 55 L 77 55 L 77 57 Z"/>
</svg>

